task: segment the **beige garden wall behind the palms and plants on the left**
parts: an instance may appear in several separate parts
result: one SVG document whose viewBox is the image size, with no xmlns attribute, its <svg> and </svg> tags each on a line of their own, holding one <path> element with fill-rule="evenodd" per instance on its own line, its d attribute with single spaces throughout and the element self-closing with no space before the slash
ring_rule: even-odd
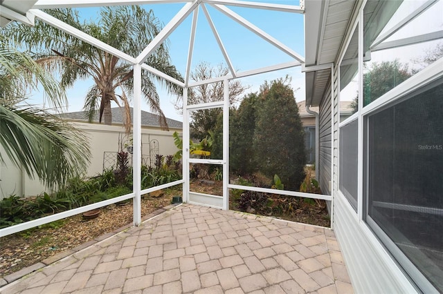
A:
<svg viewBox="0 0 443 294">
<path fill-rule="evenodd" d="M 89 158 L 89 168 L 85 173 L 87 177 L 93 177 L 102 173 L 103 155 L 107 152 L 110 153 L 109 156 L 115 156 L 114 153 L 119 150 L 119 137 L 122 138 L 123 148 L 125 148 L 125 144 L 130 144 L 129 136 L 125 135 L 125 130 L 122 126 L 105 126 L 102 124 L 86 124 L 80 122 L 72 122 L 71 124 L 81 130 L 85 137 L 89 138 L 91 157 Z M 172 137 L 174 131 L 175 130 L 163 131 L 142 128 L 143 158 L 145 159 L 145 157 L 149 155 L 149 143 L 152 140 L 159 142 L 160 155 L 166 156 L 176 153 L 178 149 L 174 145 L 174 139 Z M 178 129 L 177 131 L 181 132 L 181 130 Z M 3 150 L 0 151 L 4 154 Z M 21 172 L 20 168 L 15 167 L 10 159 L 6 158 L 5 161 L 5 164 L 0 166 L 0 199 L 8 197 L 9 195 L 24 197 L 35 196 L 45 191 L 44 184 L 42 184 L 39 179 L 30 179 Z M 108 164 L 107 166 L 110 165 Z"/>
</svg>

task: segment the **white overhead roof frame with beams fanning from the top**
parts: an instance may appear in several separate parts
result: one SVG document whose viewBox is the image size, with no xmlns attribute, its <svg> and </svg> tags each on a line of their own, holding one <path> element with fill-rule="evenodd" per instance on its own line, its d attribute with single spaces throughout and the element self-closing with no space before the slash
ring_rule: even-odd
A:
<svg viewBox="0 0 443 294">
<path fill-rule="evenodd" d="M 51 9 L 51 8 L 88 8 L 88 7 L 100 7 L 100 6 L 128 6 L 128 5 L 145 5 L 145 4 L 165 4 L 165 3 L 183 3 L 183 7 L 175 16 L 163 27 L 161 32 L 159 32 L 154 39 L 147 45 L 147 47 L 140 52 L 140 54 L 136 57 L 132 57 L 127 55 L 125 52 L 117 50 L 112 46 L 109 46 L 107 43 L 104 43 L 96 38 L 93 38 L 86 33 L 73 28 L 60 19 L 56 19 L 55 17 L 51 17 L 51 15 L 43 12 L 41 9 Z M 235 79 L 238 77 L 246 77 L 249 75 L 257 75 L 263 72 L 270 72 L 273 70 L 280 70 L 284 68 L 291 68 L 294 66 L 302 66 L 305 63 L 305 58 L 302 57 L 298 52 L 290 48 L 289 46 L 282 43 L 272 35 L 264 32 L 264 30 L 258 28 L 250 21 L 244 19 L 242 16 L 228 8 L 227 6 L 237 6 L 242 8 L 251 8 L 251 9 L 260 9 L 260 10 L 274 10 L 280 12 L 291 12 L 294 14 L 303 14 L 304 1 L 300 1 L 300 6 L 287 5 L 287 4 L 277 4 L 277 3 L 262 3 L 255 1 L 237 1 L 237 0 L 24 0 L 24 1 L 16 1 L 16 0 L 3 0 L 0 5 L 0 24 L 1 26 L 6 26 L 9 21 L 19 21 L 21 23 L 26 23 L 27 25 L 33 26 L 35 23 L 35 17 L 41 19 L 42 21 L 48 23 L 55 28 L 59 28 L 64 32 L 73 35 L 74 37 L 78 37 L 82 41 L 85 41 L 105 52 L 109 52 L 111 55 L 115 55 L 120 59 L 123 59 L 132 64 L 140 64 L 143 69 L 152 72 L 154 75 L 157 75 L 163 79 L 166 79 L 174 84 L 177 84 L 181 87 L 192 87 L 199 86 L 201 84 L 209 84 L 217 81 L 222 81 L 224 79 Z M 286 53 L 293 59 L 293 61 L 289 61 L 286 63 L 280 63 L 273 66 L 266 66 L 264 68 L 256 68 L 253 70 L 246 71 L 238 71 L 235 70 L 235 64 L 231 61 L 228 50 L 226 50 L 226 46 L 224 45 L 223 39 L 219 36 L 217 32 L 217 26 L 212 21 L 210 13 L 208 12 L 207 6 L 211 6 L 215 8 L 215 10 L 221 12 L 226 17 L 232 19 L 233 21 L 239 23 L 239 25 L 246 28 L 251 33 L 257 35 L 258 37 L 264 39 L 264 41 L 270 43 L 275 48 L 278 48 L 282 52 Z M 190 81 L 190 72 L 191 72 L 191 64 L 192 64 L 192 56 L 195 47 L 195 35 L 197 30 L 197 17 L 199 14 L 199 9 L 204 12 L 206 20 L 213 32 L 215 40 L 219 46 L 220 51 L 224 57 L 224 61 L 229 68 L 228 75 L 224 77 L 215 77 L 213 79 L 208 79 L 206 81 Z M 155 12 L 155 7 L 153 8 Z M 158 48 L 161 44 L 168 39 L 172 32 L 177 29 L 183 21 L 193 14 L 192 16 L 192 26 L 189 37 L 189 46 L 188 52 L 183 52 L 183 55 L 187 55 L 186 62 L 186 70 L 184 75 L 184 83 L 169 75 L 165 75 L 165 73 L 152 68 L 151 66 L 147 66 L 145 64 L 145 60 Z M 289 30 L 290 28 L 282 28 L 283 30 Z M 300 36 L 302 39 L 302 36 Z M 242 46 L 242 44 L 238 44 L 238 46 Z"/>
</svg>

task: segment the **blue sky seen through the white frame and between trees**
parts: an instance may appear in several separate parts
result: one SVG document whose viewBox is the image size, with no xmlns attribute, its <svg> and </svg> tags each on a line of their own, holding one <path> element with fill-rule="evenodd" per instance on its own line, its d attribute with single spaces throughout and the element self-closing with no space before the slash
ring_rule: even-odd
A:
<svg viewBox="0 0 443 294">
<path fill-rule="evenodd" d="M 284 3 L 298 5 L 298 1 L 268 1 L 271 3 Z M 154 4 L 144 6 L 147 10 L 154 10 L 154 15 L 159 18 L 161 22 L 166 25 L 172 17 L 184 6 L 183 3 L 172 4 Z M 228 18 L 213 7 L 206 5 L 211 19 L 217 28 L 217 32 L 223 41 L 228 55 L 237 70 L 251 70 L 271 66 L 273 64 L 284 63 L 292 61 L 286 53 L 275 48 L 270 43 L 267 43 L 262 38 L 255 35 L 250 30 L 240 26 L 239 23 Z M 237 14 L 250 21 L 258 28 L 264 30 L 269 35 L 278 39 L 284 45 L 298 52 L 298 54 L 305 56 L 304 52 L 304 35 L 303 35 L 303 16 L 301 14 L 291 14 L 288 12 L 275 12 L 270 10 L 255 10 L 251 8 L 239 8 L 228 6 Z M 96 19 L 98 17 L 97 8 L 81 8 L 78 9 L 80 16 L 84 19 Z M 188 46 L 190 39 L 190 29 L 192 23 L 192 14 L 181 23 L 181 25 L 172 32 L 169 39 L 170 56 L 172 63 L 184 76 L 186 71 L 186 62 L 188 57 Z M 194 53 L 192 58 L 192 68 L 195 68 L 201 61 L 206 61 L 212 66 L 217 66 L 219 63 L 225 63 L 224 57 L 219 49 L 217 41 L 213 35 L 208 21 L 206 20 L 203 10 L 199 10 L 199 19 L 197 22 L 197 32 L 195 37 Z M 305 78 L 301 73 L 300 67 L 291 68 L 287 70 L 280 70 L 277 72 L 269 72 L 266 74 L 255 75 L 241 79 L 242 84 L 249 86 L 248 92 L 257 92 L 260 85 L 265 80 L 271 81 L 289 75 L 292 77 L 292 87 L 296 91 L 295 96 L 297 101 L 305 98 Z M 93 84 L 93 81 L 78 81 L 73 88 L 69 89 L 67 96 L 69 99 L 68 111 L 82 110 L 84 96 L 87 89 Z M 172 119 L 182 120 L 181 115 L 174 109 L 173 101 L 176 97 L 172 97 L 159 86 L 157 88 L 161 96 L 161 107 L 165 112 L 166 117 Z M 39 103 L 42 100 L 42 95 L 35 95 L 31 103 Z M 149 106 L 142 103 L 142 109 L 150 111 Z"/>
</svg>

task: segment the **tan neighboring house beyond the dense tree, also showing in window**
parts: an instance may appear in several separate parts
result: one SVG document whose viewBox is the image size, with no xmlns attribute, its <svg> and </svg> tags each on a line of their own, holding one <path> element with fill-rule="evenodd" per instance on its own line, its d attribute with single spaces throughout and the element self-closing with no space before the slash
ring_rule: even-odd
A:
<svg viewBox="0 0 443 294">
<path fill-rule="evenodd" d="M 351 108 L 352 101 L 343 101 L 340 104 L 340 121 L 347 119 L 352 115 Z M 306 111 L 306 101 L 300 101 L 297 103 L 298 114 L 302 120 L 303 130 L 305 130 L 305 147 L 307 164 L 316 163 L 316 117 L 315 115 Z M 311 107 L 309 110 L 318 113 L 318 106 Z"/>
</svg>

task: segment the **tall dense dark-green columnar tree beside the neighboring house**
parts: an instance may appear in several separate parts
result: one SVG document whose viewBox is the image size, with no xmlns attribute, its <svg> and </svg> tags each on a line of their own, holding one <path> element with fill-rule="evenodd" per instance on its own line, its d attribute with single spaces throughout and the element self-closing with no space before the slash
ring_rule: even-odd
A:
<svg viewBox="0 0 443 294">
<path fill-rule="evenodd" d="M 254 158 L 267 177 L 275 174 L 289 190 L 297 190 L 305 177 L 305 132 L 290 79 L 265 82 L 255 106 Z"/>
</svg>

